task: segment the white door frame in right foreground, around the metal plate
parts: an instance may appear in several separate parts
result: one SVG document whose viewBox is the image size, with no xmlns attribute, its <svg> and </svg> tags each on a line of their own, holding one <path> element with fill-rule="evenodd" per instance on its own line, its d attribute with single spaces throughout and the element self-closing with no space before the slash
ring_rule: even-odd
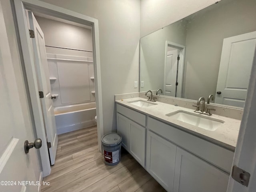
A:
<svg viewBox="0 0 256 192">
<path fill-rule="evenodd" d="M 252 63 L 244 113 L 240 124 L 234 165 L 250 173 L 248 187 L 236 182 L 230 175 L 227 192 L 255 192 L 256 189 L 256 50 Z M 231 173 L 232 174 L 232 173 Z"/>
</svg>

